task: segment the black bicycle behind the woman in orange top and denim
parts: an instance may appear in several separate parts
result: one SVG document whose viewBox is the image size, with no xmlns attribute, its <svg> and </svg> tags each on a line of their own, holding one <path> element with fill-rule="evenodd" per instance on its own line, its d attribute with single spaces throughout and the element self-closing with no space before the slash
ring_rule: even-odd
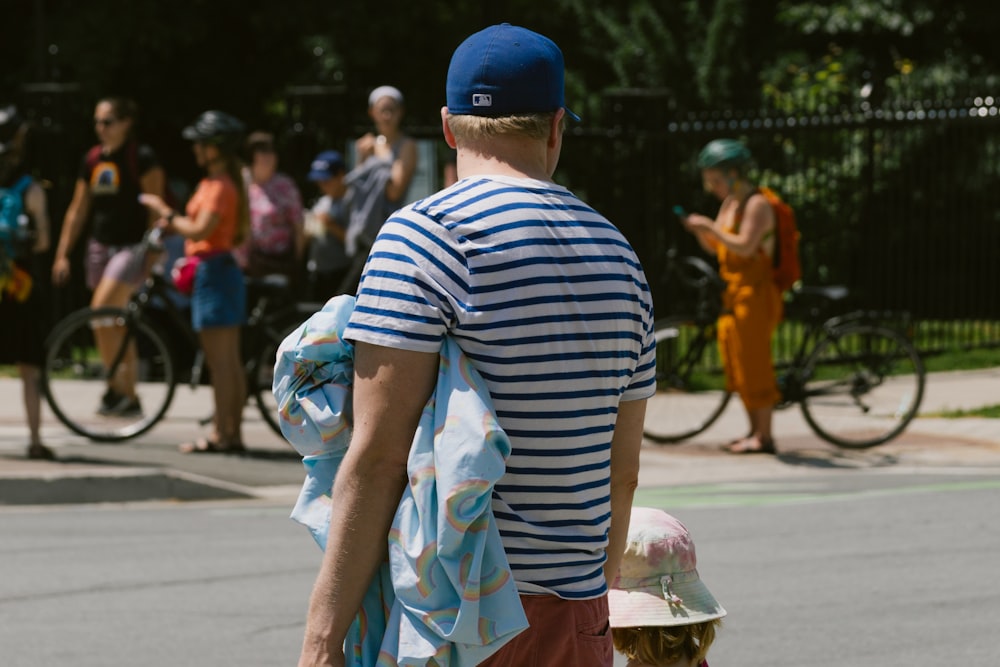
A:
<svg viewBox="0 0 1000 667">
<path fill-rule="evenodd" d="M 151 232 L 139 256 L 159 248 L 160 236 Z M 287 278 L 280 275 L 247 279 L 247 294 L 258 295 L 241 331 L 247 396 L 253 397 L 261 416 L 281 435 L 271 393 L 277 348 L 320 305 L 296 302 Z M 124 308 L 81 308 L 56 323 L 46 339 L 42 386 L 59 421 L 91 440 L 122 442 L 146 433 L 163 419 L 185 374 L 192 389 L 203 384 L 203 353 L 183 300 L 171 280 L 154 270 Z M 97 326 L 124 330 L 121 345 L 107 366 L 95 343 Z M 135 360 L 134 368 L 129 368 L 129 360 Z M 101 414 L 97 400 L 107 379 L 119 372 L 132 375 L 142 409 Z"/>
</svg>

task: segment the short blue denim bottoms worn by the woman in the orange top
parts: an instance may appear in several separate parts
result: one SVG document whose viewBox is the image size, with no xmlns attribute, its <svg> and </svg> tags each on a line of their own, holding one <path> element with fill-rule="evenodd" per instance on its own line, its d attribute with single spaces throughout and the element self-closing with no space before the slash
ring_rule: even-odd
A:
<svg viewBox="0 0 1000 667">
<path fill-rule="evenodd" d="M 232 253 L 203 259 L 194 276 L 191 323 L 195 331 L 240 326 L 246 321 L 247 290 Z"/>
</svg>

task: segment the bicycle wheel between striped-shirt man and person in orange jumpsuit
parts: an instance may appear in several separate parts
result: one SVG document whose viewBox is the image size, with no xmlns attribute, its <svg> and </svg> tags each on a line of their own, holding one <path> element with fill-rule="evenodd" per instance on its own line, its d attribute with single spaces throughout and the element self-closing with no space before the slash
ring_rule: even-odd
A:
<svg viewBox="0 0 1000 667">
<path fill-rule="evenodd" d="M 666 317 L 654 327 L 656 395 L 647 405 L 643 433 L 655 442 L 679 442 L 711 426 L 726 409 L 730 393 L 714 325 Z"/>
</svg>

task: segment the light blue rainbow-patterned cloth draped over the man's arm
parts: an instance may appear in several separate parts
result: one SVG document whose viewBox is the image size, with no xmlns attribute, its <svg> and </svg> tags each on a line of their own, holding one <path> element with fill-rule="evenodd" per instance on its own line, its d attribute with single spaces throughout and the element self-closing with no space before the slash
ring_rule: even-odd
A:
<svg viewBox="0 0 1000 667">
<path fill-rule="evenodd" d="M 321 548 L 350 441 L 354 350 L 342 334 L 353 309 L 351 296 L 327 302 L 285 339 L 274 371 L 281 429 L 306 468 L 292 518 Z M 348 665 L 477 665 L 528 627 L 490 505 L 509 454 L 485 383 L 446 339 L 410 448 L 389 561 L 345 642 Z"/>
</svg>

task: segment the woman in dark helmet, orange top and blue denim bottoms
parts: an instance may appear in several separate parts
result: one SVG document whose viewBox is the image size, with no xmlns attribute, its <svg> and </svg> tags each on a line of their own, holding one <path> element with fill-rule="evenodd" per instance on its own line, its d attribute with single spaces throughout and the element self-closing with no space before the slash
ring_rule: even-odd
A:
<svg viewBox="0 0 1000 667">
<path fill-rule="evenodd" d="M 162 198 L 141 197 L 159 216 L 159 224 L 184 236 L 186 268 L 193 272 L 191 320 L 205 352 L 215 398 L 213 433 L 181 445 L 186 453 L 239 453 L 246 380 L 240 362 L 240 326 L 246 310 L 246 286 L 232 250 L 250 225 L 246 186 L 238 157 L 244 125 L 222 111 L 206 111 L 183 136 L 193 142 L 205 177 L 184 214 Z"/>
</svg>

